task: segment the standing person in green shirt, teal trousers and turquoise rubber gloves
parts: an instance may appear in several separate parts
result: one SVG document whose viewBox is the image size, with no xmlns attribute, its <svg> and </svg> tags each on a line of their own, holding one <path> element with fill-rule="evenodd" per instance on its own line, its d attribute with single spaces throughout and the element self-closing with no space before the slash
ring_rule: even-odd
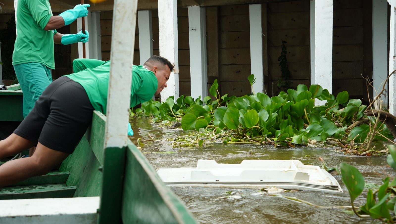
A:
<svg viewBox="0 0 396 224">
<path fill-rule="evenodd" d="M 52 82 L 55 69 L 53 44 L 88 42 L 89 34 L 60 34 L 56 31 L 79 17 L 88 15 L 88 4 L 77 5 L 60 15 L 52 15 L 48 0 L 19 0 L 16 13 L 17 38 L 12 65 L 23 91 L 23 117 Z"/>
</svg>

